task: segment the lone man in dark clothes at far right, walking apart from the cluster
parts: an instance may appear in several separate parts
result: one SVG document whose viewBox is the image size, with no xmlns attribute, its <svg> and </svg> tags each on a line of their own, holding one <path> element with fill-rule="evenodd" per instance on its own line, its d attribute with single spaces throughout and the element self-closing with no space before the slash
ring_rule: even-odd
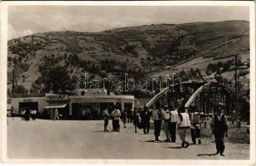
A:
<svg viewBox="0 0 256 166">
<path fill-rule="evenodd" d="M 224 155 L 225 145 L 224 136 L 228 137 L 228 120 L 225 115 L 223 115 L 223 109 L 221 105 L 217 108 L 217 114 L 214 115 L 212 120 L 213 134 L 216 144 L 217 152 L 216 154 Z"/>
</svg>

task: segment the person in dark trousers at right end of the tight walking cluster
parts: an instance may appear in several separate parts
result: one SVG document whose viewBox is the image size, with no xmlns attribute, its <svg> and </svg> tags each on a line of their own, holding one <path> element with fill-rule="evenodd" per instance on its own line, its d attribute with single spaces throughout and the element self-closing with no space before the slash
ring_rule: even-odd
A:
<svg viewBox="0 0 256 166">
<path fill-rule="evenodd" d="M 190 115 L 190 132 L 193 144 L 201 144 L 201 124 L 199 112 L 192 112 Z"/>
</svg>

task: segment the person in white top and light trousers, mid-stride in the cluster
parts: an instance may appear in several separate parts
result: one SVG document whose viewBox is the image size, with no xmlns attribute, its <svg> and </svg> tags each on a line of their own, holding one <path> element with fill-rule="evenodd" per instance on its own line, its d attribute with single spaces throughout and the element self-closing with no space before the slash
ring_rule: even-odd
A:
<svg viewBox="0 0 256 166">
<path fill-rule="evenodd" d="M 182 140 L 182 148 L 188 148 L 190 145 L 186 140 L 188 129 L 190 128 L 190 120 L 188 113 L 185 112 L 183 106 L 178 108 L 178 133 L 179 137 Z"/>
</svg>

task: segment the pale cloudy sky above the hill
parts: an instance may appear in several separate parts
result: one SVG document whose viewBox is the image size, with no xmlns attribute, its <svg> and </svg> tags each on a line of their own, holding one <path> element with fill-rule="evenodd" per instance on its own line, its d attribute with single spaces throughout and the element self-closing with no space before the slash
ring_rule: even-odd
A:
<svg viewBox="0 0 256 166">
<path fill-rule="evenodd" d="M 8 39 L 38 32 L 101 32 L 158 23 L 249 20 L 248 7 L 9 6 Z"/>
</svg>

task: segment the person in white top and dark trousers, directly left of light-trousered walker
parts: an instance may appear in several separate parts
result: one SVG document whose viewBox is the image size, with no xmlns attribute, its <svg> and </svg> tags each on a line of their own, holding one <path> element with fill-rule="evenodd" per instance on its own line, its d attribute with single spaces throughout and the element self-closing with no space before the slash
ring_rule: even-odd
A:
<svg viewBox="0 0 256 166">
<path fill-rule="evenodd" d="M 171 110 L 170 111 L 170 134 L 171 140 L 173 143 L 176 142 L 176 129 L 177 129 L 177 122 L 178 122 L 178 110 Z"/>
</svg>

